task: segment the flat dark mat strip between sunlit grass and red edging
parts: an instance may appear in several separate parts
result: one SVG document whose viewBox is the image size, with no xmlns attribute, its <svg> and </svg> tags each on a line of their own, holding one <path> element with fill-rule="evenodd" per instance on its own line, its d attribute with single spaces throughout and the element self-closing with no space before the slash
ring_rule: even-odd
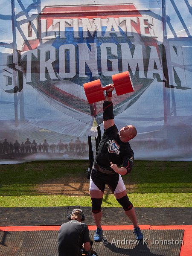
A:
<svg viewBox="0 0 192 256">
<path fill-rule="evenodd" d="M 70 206 L 68 214 L 79 206 Z M 95 225 L 91 207 L 81 207 L 87 225 Z M 102 225 L 132 225 L 122 207 L 102 207 Z M 54 214 L 53 214 L 54 212 Z M 192 225 L 192 208 L 135 208 L 140 225 Z M 67 207 L 0 207 L 0 226 L 53 226 L 67 220 Z"/>
</svg>

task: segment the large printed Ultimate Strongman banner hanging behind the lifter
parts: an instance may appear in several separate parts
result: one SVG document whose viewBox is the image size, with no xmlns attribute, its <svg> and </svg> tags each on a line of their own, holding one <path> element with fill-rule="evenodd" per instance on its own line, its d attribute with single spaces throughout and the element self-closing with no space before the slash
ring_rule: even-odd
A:
<svg viewBox="0 0 192 256">
<path fill-rule="evenodd" d="M 189 1 L 0 0 L 0 164 L 88 159 L 103 101 L 83 84 L 129 71 L 113 92 L 137 160 L 192 160 Z M 98 89 L 99 90 L 99 89 Z"/>
</svg>

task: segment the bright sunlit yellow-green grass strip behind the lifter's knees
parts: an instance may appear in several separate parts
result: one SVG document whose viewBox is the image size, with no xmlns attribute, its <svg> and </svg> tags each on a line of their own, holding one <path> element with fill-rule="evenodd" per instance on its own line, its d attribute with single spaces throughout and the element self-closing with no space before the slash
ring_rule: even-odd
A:
<svg viewBox="0 0 192 256">
<path fill-rule="evenodd" d="M 192 193 L 131 193 L 134 207 L 192 207 Z M 69 205 L 91 206 L 88 196 L 23 195 L 0 198 L 1 207 L 59 207 Z M 113 195 L 105 195 L 102 207 L 119 207 Z"/>
</svg>

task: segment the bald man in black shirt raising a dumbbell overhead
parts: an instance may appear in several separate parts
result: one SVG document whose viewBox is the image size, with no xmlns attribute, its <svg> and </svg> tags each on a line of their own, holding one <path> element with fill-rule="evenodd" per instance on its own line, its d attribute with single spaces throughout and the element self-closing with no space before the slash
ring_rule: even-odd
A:
<svg viewBox="0 0 192 256">
<path fill-rule="evenodd" d="M 99 242 L 103 236 L 101 205 L 106 184 L 133 223 L 136 239 L 141 240 L 143 239 L 143 234 L 138 226 L 133 204 L 129 201 L 121 177 L 121 175 L 131 172 L 133 167 L 134 152 L 128 141 L 137 135 L 137 130 L 133 125 L 127 125 L 118 131 L 114 124 L 112 91 L 113 87 L 106 90 L 103 103 L 103 125 L 105 130 L 99 143 L 90 175 L 92 215 L 97 226 L 94 240 Z M 118 167 L 121 165 L 122 167 Z"/>
</svg>

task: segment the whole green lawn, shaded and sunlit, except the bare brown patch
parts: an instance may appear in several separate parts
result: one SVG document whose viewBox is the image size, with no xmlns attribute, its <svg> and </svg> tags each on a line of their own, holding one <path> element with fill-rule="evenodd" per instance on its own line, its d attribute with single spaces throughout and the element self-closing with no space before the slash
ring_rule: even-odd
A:
<svg viewBox="0 0 192 256">
<path fill-rule="evenodd" d="M 38 184 L 59 177 L 83 178 L 88 160 L 36 161 L 0 166 L 0 207 L 91 206 L 88 196 L 39 195 Z M 192 207 L 192 162 L 135 161 L 122 176 L 135 207 Z M 103 206 L 118 207 L 105 194 Z"/>
</svg>

